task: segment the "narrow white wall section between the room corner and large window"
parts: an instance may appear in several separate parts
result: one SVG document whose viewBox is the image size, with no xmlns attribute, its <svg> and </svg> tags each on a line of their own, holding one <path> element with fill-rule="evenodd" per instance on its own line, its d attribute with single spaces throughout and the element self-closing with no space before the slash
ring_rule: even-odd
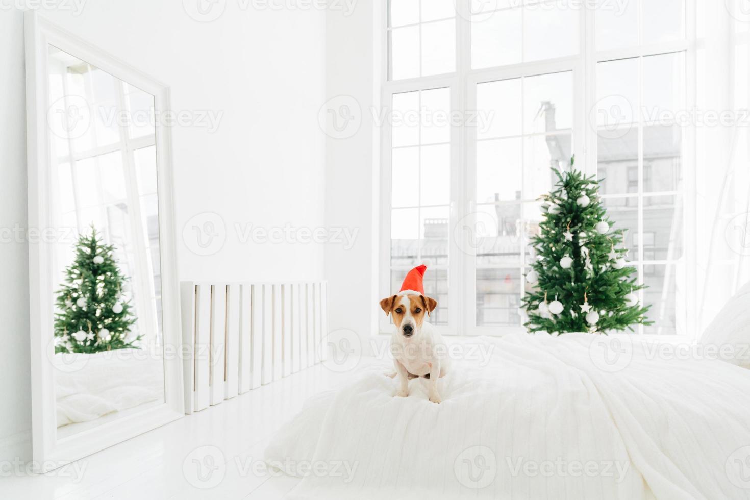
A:
<svg viewBox="0 0 750 500">
<path fill-rule="evenodd" d="M 329 280 L 329 330 L 356 333 L 365 354 L 377 333 L 377 241 L 380 130 L 372 110 L 380 107 L 382 0 L 359 0 L 344 15 L 330 11 L 326 20 L 327 110 L 348 106 L 356 121 L 350 129 L 332 130 L 326 142 L 326 224 L 359 231 L 356 244 L 326 248 Z M 373 64 L 376 61 L 376 64 Z M 357 128 L 359 126 L 359 128 Z"/>
</svg>

